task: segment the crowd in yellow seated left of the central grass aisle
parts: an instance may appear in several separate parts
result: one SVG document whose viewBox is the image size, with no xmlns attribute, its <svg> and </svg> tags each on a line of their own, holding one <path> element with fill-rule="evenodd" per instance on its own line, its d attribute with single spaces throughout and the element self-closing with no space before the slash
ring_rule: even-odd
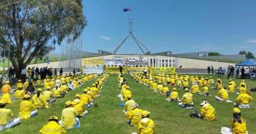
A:
<svg viewBox="0 0 256 134">
<path fill-rule="evenodd" d="M 49 109 L 49 103 L 54 103 L 56 98 L 64 97 L 66 93 L 96 77 L 96 74 L 81 74 L 60 75 L 53 79 L 47 77 L 44 80 L 39 78 L 36 82 L 26 80 L 22 83 L 21 80 L 18 80 L 14 90 L 11 89 L 9 81 L 5 82 L 1 88 L 0 131 L 20 124 L 21 120 L 28 120 L 36 116 L 38 110 Z M 86 108 L 93 106 L 93 99 L 100 96 L 100 89 L 108 77 L 108 74 L 100 76 L 91 87 L 85 88 L 81 95 L 77 94 L 73 101 L 67 101 L 66 108 L 62 111 L 61 120 L 58 120 L 56 116 L 51 116 L 49 123 L 43 126 L 39 133 L 66 133 L 64 128 L 79 127 L 79 118 L 88 114 Z M 42 86 L 43 88 L 40 88 Z M 13 95 L 11 95 L 12 93 Z M 14 118 L 11 109 L 5 109 L 5 106 L 19 100 L 21 102 L 18 118 Z"/>
</svg>

